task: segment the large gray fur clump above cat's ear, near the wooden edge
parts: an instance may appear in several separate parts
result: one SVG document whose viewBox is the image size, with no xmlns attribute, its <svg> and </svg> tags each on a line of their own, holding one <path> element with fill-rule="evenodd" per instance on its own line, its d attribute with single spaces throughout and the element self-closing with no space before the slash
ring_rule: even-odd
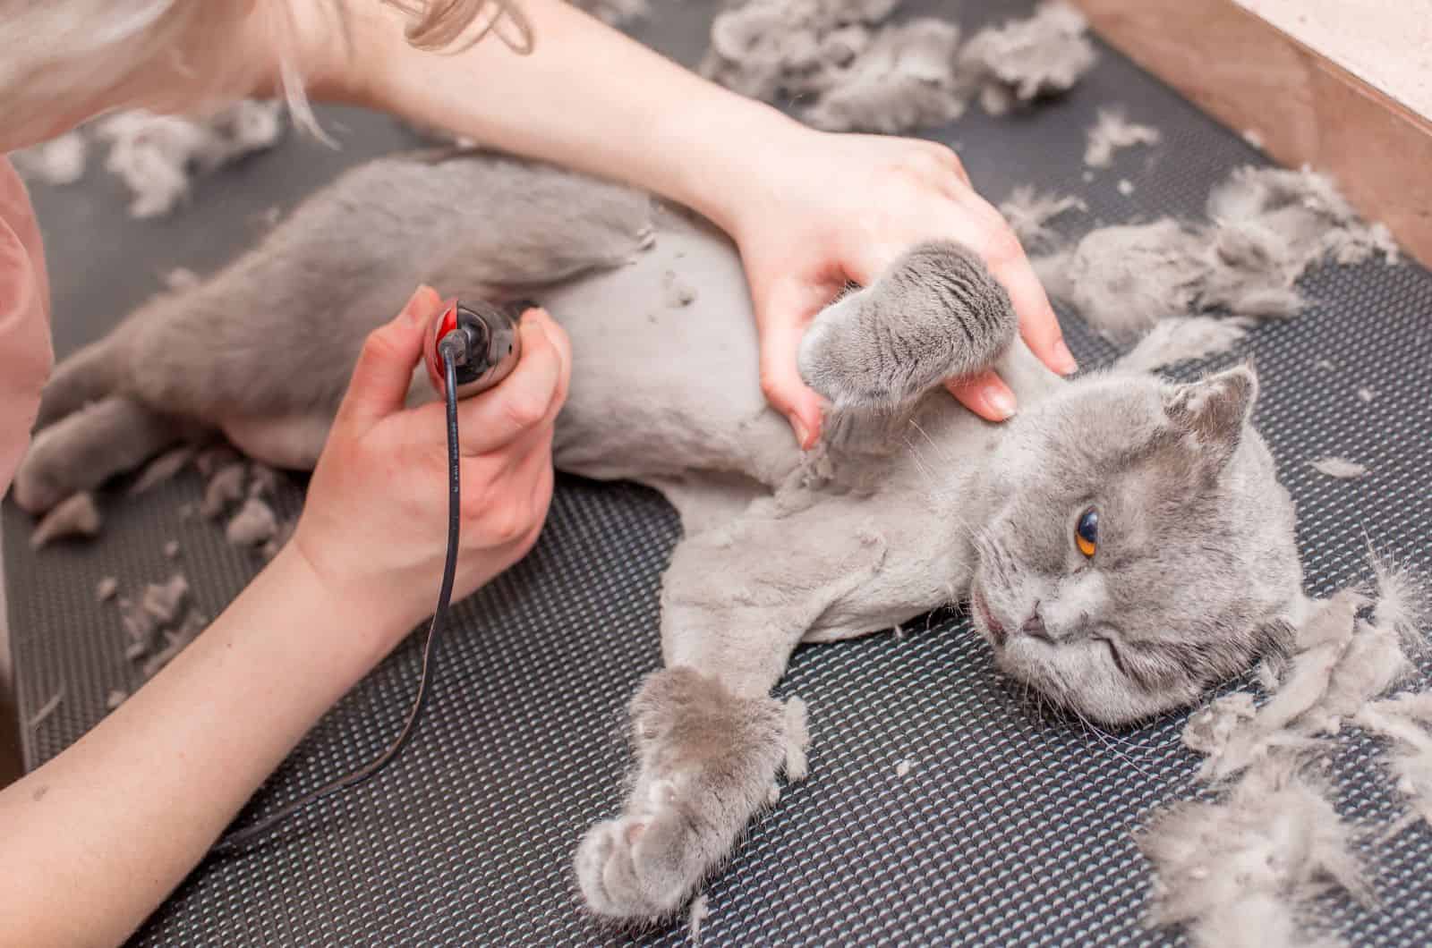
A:
<svg viewBox="0 0 1432 948">
<path fill-rule="evenodd" d="M 1329 178 L 1306 169 L 1242 168 L 1207 212 L 1203 225 L 1100 228 L 1035 269 L 1101 335 L 1127 342 L 1171 315 L 1292 316 L 1305 305 L 1295 282 L 1315 263 L 1396 259 L 1386 229 L 1359 221 Z"/>
</svg>

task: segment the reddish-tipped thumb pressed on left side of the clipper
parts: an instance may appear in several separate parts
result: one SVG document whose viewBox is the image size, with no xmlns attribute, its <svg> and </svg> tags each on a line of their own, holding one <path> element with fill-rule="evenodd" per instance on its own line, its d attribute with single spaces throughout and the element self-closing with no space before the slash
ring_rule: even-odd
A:
<svg viewBox="0 0 1432 948">
<path fill-rule="evenodd" d="M 372 424 L 402 408 L 412 384 L 412 369 L 422 357 L 422 334 L 442 309 L 431 286 L 418 286 L 402 312 L 368 334 L 354 367 L 337 424 Z"/>
</svg>

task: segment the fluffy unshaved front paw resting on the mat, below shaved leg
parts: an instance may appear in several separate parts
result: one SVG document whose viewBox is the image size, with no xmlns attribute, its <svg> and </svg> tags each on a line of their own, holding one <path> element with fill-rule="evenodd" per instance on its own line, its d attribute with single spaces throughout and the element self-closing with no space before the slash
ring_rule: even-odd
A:
<svg viewBox="0 0 1432 948">
<path fill-rule="evenodd" d="M 623 813 L 587 831 L 574 868 L 599 916 L 650 922 L 674 914 L 772 801 L 790 740 L 803 740 L 770 697 L 736 697 L 676 667 L 632 700 L 637 775 Z"/>
</svg>

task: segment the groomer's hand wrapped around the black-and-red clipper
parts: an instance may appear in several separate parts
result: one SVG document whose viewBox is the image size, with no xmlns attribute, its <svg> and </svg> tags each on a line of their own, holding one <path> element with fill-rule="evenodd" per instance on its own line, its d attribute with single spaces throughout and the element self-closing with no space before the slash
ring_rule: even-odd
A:
<svg viewBox="0 0 1432 948">
<path fill-rule="evenodd" d="M 309 485 L 292 546 L 385 653 L 432 610 L 447 538 L 442 402 L 404 408 L 430 321 L 422 286 L 364 344 Z M 461 554 L 453 599 L 477 590 L 536 543 L 553 490 L 551 437 L 571 351 L 544 311 L 521 321 L 523 357 L 495 388 L 458 402 Z M 358 630 L 355 630 L 358 632 Z M 392 637 L 397 636 L 397 637 Z"/>
</svg>

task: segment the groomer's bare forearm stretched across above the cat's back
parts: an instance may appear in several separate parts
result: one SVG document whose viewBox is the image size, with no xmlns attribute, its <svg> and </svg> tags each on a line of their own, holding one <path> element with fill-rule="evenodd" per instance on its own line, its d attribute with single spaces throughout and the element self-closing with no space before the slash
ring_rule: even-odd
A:
<svg viewBox="0 0 1432 948">
<path fill-rule="evenodd" d="M 364 10 L 352 54 L 321 70 L 319 95 L 639 185 L 717 223 L 750 153 L 800 127 L 560 0 L 523 0 L 527 56 L 495 36 L 457 53 L 415 50 L 401 17 Z"/>
</svg>

